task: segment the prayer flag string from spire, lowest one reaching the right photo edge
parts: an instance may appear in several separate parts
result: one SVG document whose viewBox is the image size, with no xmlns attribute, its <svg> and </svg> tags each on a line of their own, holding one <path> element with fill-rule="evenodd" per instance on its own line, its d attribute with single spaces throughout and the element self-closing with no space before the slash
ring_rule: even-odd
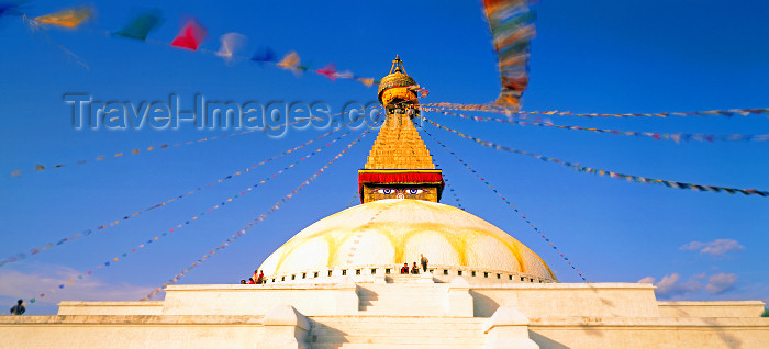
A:
<svg viewBox="0 0 769 349">
<path fill-rule="evenodd" d="M 624 179 L 628 182 L 638 182 L 638 183 L 646 183 L 646 184 L 649 184 L 649 183 L 660 184 L 660 185 L 665 185 L 668 188 L 688 189 L 688 190 L 694 190 L 694 191 L 710 191 L 710 192 L 717 192 L 717 193 L 725 192 L 725 193 L 729 193 L 729 194 L 743 193 L 745 195 L 760 195 L 760 196 L 765 196 L 765 198 L 769 196 L 769 191 L 762 191 L 762 190 L 756 190 L 756 189 L 737 189 L 737 188 L 717 187 L 717 185 L 701 185 L 701 184 L 677 182 L 677 181 L 670 181 L 670 180 L 664 180 L 664 179 L 646 178 L 646 177 L 634 176 L 634 174 L 625 174 L 625 173 L 618 173 L 618 172 L 613 172 L 613 171 L 608 171 L 608 170 L 602 170 L 602 169 L 584 167 L 584 166 L 580 166 L 579 164 L 572 164 L 569 161 L 561 160 L 561 159 L 550 158 L 550 157 L 539 155 L 536 153 L 528 153 L 528 151 L 506 147 L 503 145 L 499 145 L 495 143 L 486 142 L 486 140 L 480 139 L 480 138 L 466 135 L 466 134 L 464 134 L 459 131 L 456 131 L 454 128 L 441 125 L 441 124 L 438 124 L 432 120 L 428 120 L 424 116 L 421 116 L 421 117 L 435 127 L 446 130 L 448 132 L 452 132 L 452 133 L 458 135 L 459 137 L 473 140 L 477 144 L 480 144 L 484 147 L 493 148 L 497 150 L 520 154 L 520 155 L 525 155 L 525 156 L 531 156 L 531 157 L 537 158 L 537 159 L 546 161 L 546 162 L 559 164 L 561 166 L 566 166 L 568 168 L 571 168 L 578 172 L 599 174 L 601 177 L 609 176 L 610 178 Z"/>
</svg>

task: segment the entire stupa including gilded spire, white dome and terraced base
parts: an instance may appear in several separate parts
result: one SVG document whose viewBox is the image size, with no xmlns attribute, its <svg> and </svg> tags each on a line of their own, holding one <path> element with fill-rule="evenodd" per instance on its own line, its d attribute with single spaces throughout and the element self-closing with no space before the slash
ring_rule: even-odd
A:
<svg viewBox="0 0 769 349">
<path fill-rule="evenodd" d="M 400 58 L 358 171 L 361 204 L 299 232 L 264 284 L 169 285 L 163 301 L 62 302 L 2 316 L 14 348 L 762 348 L 759 301 L 659 302 L 648 283 L 561 283 L 526 246 L 439 203 Z M 428 259 L 426 270 L 401 273 Z"/>
</svg>

